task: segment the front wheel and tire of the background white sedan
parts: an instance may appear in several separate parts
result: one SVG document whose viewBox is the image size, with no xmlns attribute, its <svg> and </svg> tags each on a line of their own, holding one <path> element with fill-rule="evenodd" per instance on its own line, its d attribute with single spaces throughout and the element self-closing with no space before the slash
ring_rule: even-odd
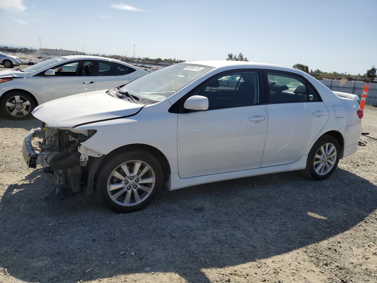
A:
<svg viewBox="0 0 377 283">
<path fill-rule="evenodd" d="M 25 120 L 31 116 L 31 111 L 35 108 L 35 102 L 31 95 L 14 91 L 3 95 L 1 108 L 3 114 L 9 119 Z"/>
</svg>

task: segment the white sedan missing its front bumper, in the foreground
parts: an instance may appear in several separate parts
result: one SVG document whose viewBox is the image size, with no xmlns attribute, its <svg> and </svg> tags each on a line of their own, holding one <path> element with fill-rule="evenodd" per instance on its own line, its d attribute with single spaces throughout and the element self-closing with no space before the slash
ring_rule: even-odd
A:
<svg viewBox="0 0 377 283">
<path fill-rule="evenodd" d="M 238 82 L 219 83 L 229 76 Z M 144 208 L 165 185 L 293 170 L 324 180 L 357 151 L 361 134 L 357 96 L 340 95 L 297 69 L 179 63 L 122 88 L 37 107 L 33 115 L 44 123 L 25 138 L 23 157 L 54 171 L 60 185 L 45 200 L 94 188 L 117 213 Z M 43 138 L 38 150 L 35 137 Z"/>
</svg>

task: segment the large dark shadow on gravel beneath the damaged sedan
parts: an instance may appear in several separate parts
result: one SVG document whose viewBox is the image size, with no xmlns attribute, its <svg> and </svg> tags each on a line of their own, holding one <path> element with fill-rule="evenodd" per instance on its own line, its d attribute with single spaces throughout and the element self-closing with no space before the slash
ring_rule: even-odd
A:
<svg viewBox="0 0 377 283">
<path fill-rule="evenodd" d="M 376 186 L 339 168 L 320 182 L 290 172 L 164 191 L 149 208 L 127 215 L 108 212 L 94 197 L 41 203 L 52 177 L 39 175 L 9 186 L 0 202 L 0 266 L 42 283 L 147 267 L 205 283 L 203 268 L 292 251 L 352 228 L 377 208 Z"/>
</svg>

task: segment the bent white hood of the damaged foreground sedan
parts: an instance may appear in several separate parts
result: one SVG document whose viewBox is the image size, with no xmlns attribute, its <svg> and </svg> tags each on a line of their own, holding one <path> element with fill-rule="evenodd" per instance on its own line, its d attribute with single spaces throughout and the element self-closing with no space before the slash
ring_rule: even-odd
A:
<svg viewBox="0 0 377 283">
<path fill-rule="evenodd" d="M 52 128 L 74 126 L 123 118 L 137 114 L 144 104 L 136 104 L 103 91 L 85 92 L 41 104 L 32 114 Z"/>
</svg>

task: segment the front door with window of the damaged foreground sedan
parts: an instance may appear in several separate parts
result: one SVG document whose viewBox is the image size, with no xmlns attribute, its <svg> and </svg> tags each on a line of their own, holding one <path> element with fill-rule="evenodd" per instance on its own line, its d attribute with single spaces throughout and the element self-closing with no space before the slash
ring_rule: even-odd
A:
<svg viewBox="0 0 377 283">
<path fill-rule="evenodd" d="M 179 177 L 261 166 L 267 131 L 261 76 L 257 70 L 223 72 L 180 100 L 177 128 Z M 184 101 L 192 95 L 207 97 L 208 110 L 192 112 L 182 109 Z"/>
</svg>

